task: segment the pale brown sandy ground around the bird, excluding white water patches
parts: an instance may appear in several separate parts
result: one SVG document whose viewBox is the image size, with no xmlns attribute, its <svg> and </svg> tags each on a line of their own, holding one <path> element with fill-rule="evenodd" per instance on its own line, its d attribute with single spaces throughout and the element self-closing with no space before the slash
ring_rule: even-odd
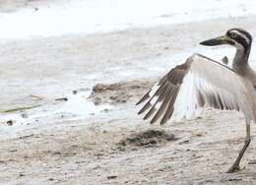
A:
<svg viewBox="0 0 256 185">
<path fill-rule="evenodd" d="M 1 138 L 0 184 L 255 184 L 255 125 L 243 169 L 225 173 L 243 145 L 243 115 L 208 109 L 197 120 L 149 125 L 134 104 L 163 74 L 119 79 L 109 70 L 170 57 L 232 27 L 256 35 L 255 18 L 1 41 L 1 110 L 48 103 L 30 94 L 56 98 L 92 86 L 90 99 L 114 108 L 48 116 Z"/>
</svg>

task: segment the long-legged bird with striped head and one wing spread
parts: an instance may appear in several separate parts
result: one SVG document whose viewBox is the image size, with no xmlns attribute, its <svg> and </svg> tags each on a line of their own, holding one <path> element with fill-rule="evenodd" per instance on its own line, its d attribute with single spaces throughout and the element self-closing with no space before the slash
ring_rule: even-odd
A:
<svg viewBox="0 0 256 185">
<path fill-rule="evenodd" d="M 256 72 L 248 63 L 252 35 L 243 29 L 229 29 L 224 35 L 200 42 L 204 46 L 235 48 L 230 67 L 205 55 L 194 53 L 173 67 L 137 102 L 138 114 L 151 123 L 188 118 L 206 107 L 237 110 L 244 114 L 246 136 L 243 148 L 226 172 L 240 170 L 240 160 L 251 142 L 250 124 L 256 122 Z M 199 112 L 199 113 L 198 113 Z"/>
</svg>

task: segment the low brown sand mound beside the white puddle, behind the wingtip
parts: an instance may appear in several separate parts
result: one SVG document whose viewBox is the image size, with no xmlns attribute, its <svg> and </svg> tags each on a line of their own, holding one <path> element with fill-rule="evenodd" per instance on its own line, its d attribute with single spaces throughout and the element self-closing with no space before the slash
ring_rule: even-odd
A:
<svg viewBox="0 0 256 185">
<path fill-rule="evenodd" d="M 154 83 L 150 81 L 129 81 L 114 84 L 97 84 L 89 96 L 94 103 L 125 103 L 129 100 L 138 99 Z"/>
</svg>

